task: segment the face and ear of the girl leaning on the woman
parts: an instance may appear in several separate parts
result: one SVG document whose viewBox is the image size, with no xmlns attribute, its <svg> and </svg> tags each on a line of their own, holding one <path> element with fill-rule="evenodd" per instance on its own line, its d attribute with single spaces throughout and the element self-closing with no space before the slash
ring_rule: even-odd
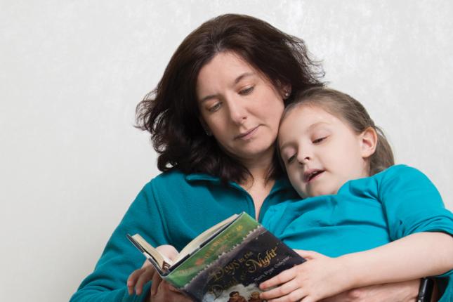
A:
<svg viewBox="0 0 453 302">
<path fill-rule="evenodd" d="M 278 146 L 298 194 L 336 194 L 346 181 L 369 176 L 366 136 L 321 107 L 294 107 L 282 121 Z"/>
</svg>

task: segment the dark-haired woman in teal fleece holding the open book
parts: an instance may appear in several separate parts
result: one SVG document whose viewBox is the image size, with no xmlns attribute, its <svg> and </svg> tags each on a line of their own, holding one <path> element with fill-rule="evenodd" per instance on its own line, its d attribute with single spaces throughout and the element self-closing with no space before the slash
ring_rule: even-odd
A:
<svg viewBox="0 0 453 302">
<path fill-rule="evenodd" d="M 322 86 L 320 77 L 301 39 L 256 18 L 221 15 L 189 34 L 137 108 L 138 126 L 150 131 L 164 173 L 131 204 L 71 301 L 190 301 L 157 274 L 151 290 L 147 284 L 145 294 L 129 296 L 127 277 L 143 258 L 126 233 L 180 250 L 234 213 L 246 211 L 259 220 L 270 205 L 297 198 L 274 143 L 284 106 L 298 91 Z M 344 295 L 377 293 L 379 301 L 402 301 L 416 296 L 418 284 Z"/>
</svg>

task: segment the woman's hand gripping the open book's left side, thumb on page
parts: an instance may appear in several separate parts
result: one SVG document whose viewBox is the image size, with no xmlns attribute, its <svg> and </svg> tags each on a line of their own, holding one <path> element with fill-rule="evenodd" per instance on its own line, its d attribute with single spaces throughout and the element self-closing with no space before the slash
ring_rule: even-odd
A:
<svg viewBox="0 0 453 302">
<path fill-rule="evenodd" d="M 171 245 L 162 245 L 157 247 L 157 250 L 164 254 L 166 257 L 173 259 L 178 255 L 178 251 Z M 145 261 L 142 268 L 134 270 L 127 280 L 127 289 L 129 294 L 133 294 L 135 288 L 136 294 L 140 295 L 143 292 L 143 287 L 149 281 L 152 281 L 151 291 L 148 301 L 152 302 L 166 302 L 166 301 L 175 301 L 175 302 L 190 302 L 190 298 L 185 296 L 175 287 L 171 286 L 156 273 L 155 268 Z"/>
</svg>

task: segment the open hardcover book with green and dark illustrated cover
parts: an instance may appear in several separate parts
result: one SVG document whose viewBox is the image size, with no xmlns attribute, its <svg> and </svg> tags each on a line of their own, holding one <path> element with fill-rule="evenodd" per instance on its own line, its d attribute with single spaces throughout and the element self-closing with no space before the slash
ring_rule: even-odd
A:
<svg viewBox="0 0 453 302">
<path fill-rule="evenodd" d="M 306 260 L 247 213 L 202 232 L 170 260 L 140 235 L 127 235 L 162 279 L 195 301 L 261 301 L 258 285 Z"/>
</svg>

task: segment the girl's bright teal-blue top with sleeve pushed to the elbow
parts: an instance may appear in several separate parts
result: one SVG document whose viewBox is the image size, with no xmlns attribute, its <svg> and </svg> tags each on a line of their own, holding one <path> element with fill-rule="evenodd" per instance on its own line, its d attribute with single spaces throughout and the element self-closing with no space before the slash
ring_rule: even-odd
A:
<svg viewBox="0 0 453 302">
<path fill-rule="evenodd" d="M 270 206 L 262 223 L 293 249 L 332 257 L 415 232 L 453 234 L 453 214 L 445 209 L 438 190 L 424 173 L 405 165 L 350 180 L 336 195 Z"/>
</svg>

